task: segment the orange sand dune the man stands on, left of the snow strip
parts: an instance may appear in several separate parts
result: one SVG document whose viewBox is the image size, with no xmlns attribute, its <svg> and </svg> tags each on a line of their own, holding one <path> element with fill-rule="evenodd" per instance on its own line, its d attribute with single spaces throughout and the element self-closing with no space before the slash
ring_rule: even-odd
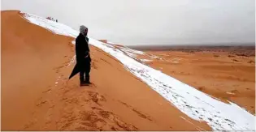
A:
<svg viewBox="0 0 256 132">
<path fill-rule="evenodd" d="M 28 23 L 19 11 L 2 11 L 1 24 L 2 130 L 211 130 L 101 49 L 90 46 L 93 85 L 80 87 L 78 75 L 67 79 L 74 38 Z"/>
</svg>

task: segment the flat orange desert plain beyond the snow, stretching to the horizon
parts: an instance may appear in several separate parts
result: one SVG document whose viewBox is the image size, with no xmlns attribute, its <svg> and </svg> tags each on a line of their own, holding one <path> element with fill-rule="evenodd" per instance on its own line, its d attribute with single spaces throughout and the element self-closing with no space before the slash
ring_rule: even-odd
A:
<svg viewBox="0 0 256 132">
<path fill-rule="evenodd" d="M 173 46 L 170 49 L 145 46 L 144 49 L 162 58 L 141 56 L 151 60 L 146 64 L 225 103 L 232 101 L 255 115 L 254 46 Z"/>
</svg>

